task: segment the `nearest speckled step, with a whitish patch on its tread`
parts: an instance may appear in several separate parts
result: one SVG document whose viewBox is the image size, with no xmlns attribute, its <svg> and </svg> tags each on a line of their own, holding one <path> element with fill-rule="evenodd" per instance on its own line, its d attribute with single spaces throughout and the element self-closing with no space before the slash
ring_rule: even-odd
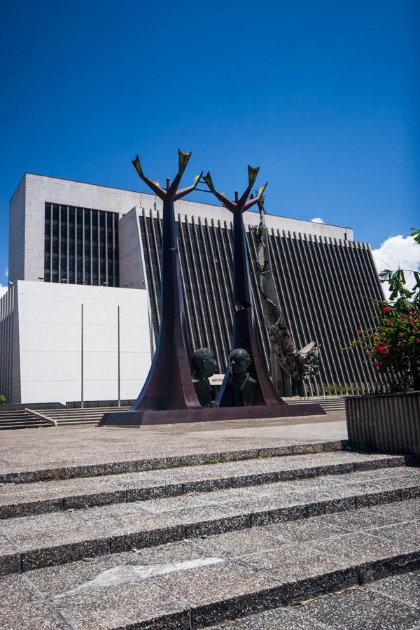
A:
<svg viewBox="0 0 420 630">
<path fill-rule="evenodd" d="M 190 629 L 229 628 L 225 622 L 237 619 L 239 626 L 232 627 L 254 630 L 407 630 L 418 624 L 418 608 L 414 601 L 402 611 L 393 594 L 395 576 L 419 566 L 419 519 L 417 498 L 154 548 L 140 549 L 133 538 L 127 552 L 0 578 L 0 624 L 37 630 Z M 371 584 L 365 598 L 371 607 L 356 617 L 360 584 Z M 338 604 L 330 616 L 323 615 L 326 600 L 319 597 L 342 589 L 332 596 Z M 391 593 L 392 603 L 379 598 L 384 592 Z M 298 602 L 302 617 L 290 608 Z M 330 624 L 337 618 L 337 625 Z"/>
</svg>

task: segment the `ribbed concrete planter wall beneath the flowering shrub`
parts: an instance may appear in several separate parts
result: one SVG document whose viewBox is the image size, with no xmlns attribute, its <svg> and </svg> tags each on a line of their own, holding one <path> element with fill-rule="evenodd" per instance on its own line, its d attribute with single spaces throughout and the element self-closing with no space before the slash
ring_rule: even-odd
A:
<svg viewBox="0 0 420 630">
<path fill-rule="evenodd" d="M 355 449 L 420 456 L 420 391 L 346 398 Z"/>
</svg>

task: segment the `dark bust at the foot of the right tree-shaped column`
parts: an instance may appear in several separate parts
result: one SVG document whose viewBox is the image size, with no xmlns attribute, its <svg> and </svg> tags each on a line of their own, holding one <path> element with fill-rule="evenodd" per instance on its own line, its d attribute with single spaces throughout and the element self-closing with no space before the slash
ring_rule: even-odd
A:
<svg viewBox="0 0 420 630">
<path fill-rule="evenodd" d="M 226 386 L 231 407 L 249 407 L 253 405 L 255 381 L 248 374 L 251 358 L 242 348 L 235 348 L 229 355 L 230 377 Z"/>
</svg>

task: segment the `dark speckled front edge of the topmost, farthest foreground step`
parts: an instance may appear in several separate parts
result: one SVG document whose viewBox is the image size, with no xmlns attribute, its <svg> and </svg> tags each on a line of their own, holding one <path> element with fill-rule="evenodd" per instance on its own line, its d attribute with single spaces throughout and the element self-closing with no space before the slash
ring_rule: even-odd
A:
<svg viewBox="0 0 420 630">
<path fill-rule="evenodd" d="M 98 434 L 99 435 L 99 434 Z M 231 438 L 232 440 L 232 438 Z M 143 438 L 145 442 L 145 437 Z M 232 443 L 232 442 L 230 442 Z M 150 442 L 149 442 L 150 444 Z M 153 442 L 152 442 L 153 444 Z M 141 459 L 100 461 L 83 465 L 61 465 L 58 468 L 36 468 L 14 470 L 13 472 L 0 473 L 0 483 L 29 483 L 45 481 L 49 479 L 70 479 L 73 477 L 97 477 L 100 475 L 118 475 L 123 472 L 141 472 L 144 470 L 161 470 L 162 468 L 179 468 L 180 466 L 197 466 L 209 463 L 221 463 L 228 461 L 242 461 L 269 457 L 283 457 L 289 455 L 316 454 L 325 452 L 337 452 L 346 448 L 346 440 L 330 440 L 327 442 L 295 442 L 282 446 L 264 446 L 254 448 L 241 448 L 230 450 L 211 451 L 208 448 L 195 449 L 194 452 L 187 449 L 181 454 L 173 456 L 148 456 Z M 223 442 L 225 446 L 225 441 Z M 149 451 L 150 445 L 147 447 Z M 169 449 L 166 449 L 168 451 Z M 173 451 L 173 449 L 171 449 Z M 179 451 L 179 447 L 178 447 Z M 144 452 L 144 450 L 143 450 Z M 91 460 L 91 458 L 90 458 Z"/>
</svg>

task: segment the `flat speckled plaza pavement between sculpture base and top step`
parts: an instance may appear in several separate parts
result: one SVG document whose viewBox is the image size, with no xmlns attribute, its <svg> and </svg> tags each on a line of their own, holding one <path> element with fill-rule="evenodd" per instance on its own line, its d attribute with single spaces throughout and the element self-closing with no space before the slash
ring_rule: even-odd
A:
<svg viewBox="0 0 420 630">
<path fill-rule="evenodd" d="M 322 420 L 322 421 L 321 421 Z M 212 454 L 345 440 L 344 412 L 302 418 L 116 427 L 3 430 L 0 479 L 15 472 L 114 465 L 153 458 Z M 125 472 L 130 472 L 125 470 Z"/>
</svg>

